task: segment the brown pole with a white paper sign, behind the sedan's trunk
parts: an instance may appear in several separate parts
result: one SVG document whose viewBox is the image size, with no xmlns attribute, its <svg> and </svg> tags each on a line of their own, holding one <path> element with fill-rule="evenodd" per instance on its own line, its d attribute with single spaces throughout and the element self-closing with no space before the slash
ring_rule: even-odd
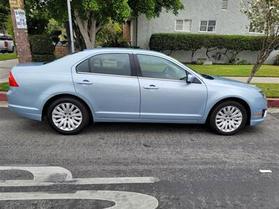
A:
<svg viewBox="0 0 279 209">
<path fill-rule="evenodd" d="M 15 33 L 15 46 L 20 63 L 32 61 L 30 44 L 28 40 L 27 20 L 24 11 L 24 0 L 9 0 L 10 13 Z"/>
</svg>

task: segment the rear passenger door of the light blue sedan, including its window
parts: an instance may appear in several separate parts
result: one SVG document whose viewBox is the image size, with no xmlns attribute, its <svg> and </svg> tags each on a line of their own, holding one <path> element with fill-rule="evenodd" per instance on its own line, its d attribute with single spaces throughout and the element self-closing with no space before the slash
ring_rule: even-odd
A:
<svg viewBox="0 0 279 209">
<path fill-rule="evenodd" d="M 77 93 L 98 118 L 140 118 L 140 86 L 128 53 L 96 54 L 74 66 Z"/>
</svg>

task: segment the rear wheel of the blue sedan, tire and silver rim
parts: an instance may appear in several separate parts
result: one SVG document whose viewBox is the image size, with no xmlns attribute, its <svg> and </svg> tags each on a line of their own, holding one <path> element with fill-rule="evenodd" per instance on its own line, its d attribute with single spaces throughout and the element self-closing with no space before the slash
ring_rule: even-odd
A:
<svg viewBox="0 0 279 209">
<path fill-rule="evenodd" d="M 89 110 L 79 100 L 59 98 L 47 109 L 47 121 L 60 134 L 77 134 L 89 124 Z"/>
</svg>

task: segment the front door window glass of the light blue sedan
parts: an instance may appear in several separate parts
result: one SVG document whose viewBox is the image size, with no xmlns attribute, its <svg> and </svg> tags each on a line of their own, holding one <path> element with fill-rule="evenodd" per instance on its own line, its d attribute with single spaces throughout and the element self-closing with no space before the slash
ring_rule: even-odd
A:
<svg viewBox="0 0 279 209">
<path fill-rule="evenodd" d="M 186 70 L 171 61 L 158 56 L 142 54 L 138 54 L 137 57 L 140 62 L 142 77 L 172 80 L 181 80 L 187 77 Z"/>
</svg>

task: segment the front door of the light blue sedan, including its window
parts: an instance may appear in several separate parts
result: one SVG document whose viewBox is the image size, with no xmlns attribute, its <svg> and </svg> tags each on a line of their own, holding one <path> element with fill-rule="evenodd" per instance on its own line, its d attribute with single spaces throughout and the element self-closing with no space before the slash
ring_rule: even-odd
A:
<svg viewBox="0 0 279 209">
<path fill-rule="evenodd" d="M 186 82 L 187 71 L 170 59 L 134 55 L 139 77 L 140 118 L 152 120 L 200 121 L 207 100 L 207 88 L 196 79 Z"/>
</svg>

